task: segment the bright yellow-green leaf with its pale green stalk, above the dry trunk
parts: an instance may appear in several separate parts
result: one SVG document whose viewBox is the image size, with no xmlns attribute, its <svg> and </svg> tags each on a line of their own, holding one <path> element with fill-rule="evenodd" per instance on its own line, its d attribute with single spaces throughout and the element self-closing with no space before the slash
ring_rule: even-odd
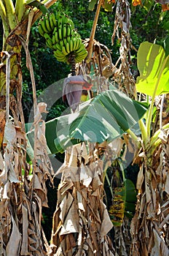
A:
<svg viewBox="0 0 169 256">
<path fill-rule="evenodd" d="M 168 45 L 165 50 L 160 45 L 150 42 L 143 42 L 138 49 L 138 69 L 140 76 L 136 81 L 136 89 L 138 92 L 148 95 L 149 112 L 146 116 L 146 124 L 140 121 L 141 135 L 144 139 L 144 145 L 147 143 L 152 146 L 153 151 L 158 146 L 155 143 L 158 131 L 151 136 L 152 115 L 154 109 L 155 97 L 169 92 L 169 56 L 167 53 Z M 152 99 L 149 101 L 149 96 Z M 163 127 L 168 128 L 168 124 Z M 162 127 L 160 127 L 162 129 Z M 155 143 L 155 145 L 153 145 Z"/>
</svg>

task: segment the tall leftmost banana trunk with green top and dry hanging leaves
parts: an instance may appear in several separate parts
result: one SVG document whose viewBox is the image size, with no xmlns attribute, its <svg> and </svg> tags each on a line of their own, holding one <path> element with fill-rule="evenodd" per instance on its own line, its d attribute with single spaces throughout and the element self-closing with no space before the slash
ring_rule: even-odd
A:
<svg viewBox="0 0 169 256">
<path fill-rule="evenodd" d="M 22 4 L 16 1 L 14 8 L 10 0 L 0 2 L 4 27 L 0 64 L 0 255 L 10 256 L 47 255 L 41 222 L 42 206 L 47 206 L 45 181 L 52 172 L 44 125 L 39 125 L 46 108 L 43 104 L 35 106 L 35 151 L 32 164 L 26 162 L 21 49 L 27 38 L 28 16 L 18 23 L 22 17 L 17 7 L 22 10 Z"/>
</svg>

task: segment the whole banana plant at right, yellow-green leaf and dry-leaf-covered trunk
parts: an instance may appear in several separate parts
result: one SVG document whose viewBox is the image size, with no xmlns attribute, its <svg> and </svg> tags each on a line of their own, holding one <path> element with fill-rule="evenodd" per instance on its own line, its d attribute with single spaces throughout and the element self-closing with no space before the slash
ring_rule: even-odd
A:
<svg viewBox="0 0 169 256">
<path fill-rule="evenodd" d="M 135 216 L 131 224 L 133 244 L 131 255 L 168 255 L 168 238 L 164 240 L 158 233 L 165 233 L 163 220 L 165 217 L 165 202 L 168 194 L 168 129 L 169 123 L 162 124 L 162 113 L 165 95 L 169 93 L 169 56 L 168 43 L 165 49 L 160 45 L 143 42 L 138 49 L 138 69 L 136 89 L 147 95 L 149 110 L 144 119 L 139 121 L 141 130 L 140 154 L 135 158 L 140 170 L 136 187 L 138 200 Z M 160 111 L 156 119 L 159 127 L 153 127 L 154 102 L 161 97 Z M 166 97 L 165 105 L 168 105 Z M 155 131 L 155 132 L 154 132 Z M 162 211 L 159 211 L 162 209 Z M 151 245 L 149 241 L 152 241 Z M 160 244 L 160 246 L 159 246 Z"/>
</svg>

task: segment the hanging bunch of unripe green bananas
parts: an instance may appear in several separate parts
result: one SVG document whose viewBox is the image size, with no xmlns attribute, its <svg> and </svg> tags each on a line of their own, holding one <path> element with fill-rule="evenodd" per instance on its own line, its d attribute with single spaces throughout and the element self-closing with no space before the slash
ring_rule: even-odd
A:
<svg viewBox="0 0 169 256">
<path fill-rule="evenodd" d="M 39 33 L 46 39 L 46 44 L 53 50 L 58 61 L 67 62 L 74 55 L 76 63 L 87 56 L 87 50 L 79 33 L 74 29 L 73 21 L 61 12 L 47 13 L 39 22 Z"/>
</svg>

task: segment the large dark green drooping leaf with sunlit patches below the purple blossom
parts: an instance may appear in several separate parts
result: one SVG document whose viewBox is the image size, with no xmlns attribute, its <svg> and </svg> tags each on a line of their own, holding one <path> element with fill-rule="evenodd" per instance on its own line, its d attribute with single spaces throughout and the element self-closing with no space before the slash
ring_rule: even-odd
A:
<svg viewBox="0 0 169 256">
<path fill-rule="evenodd" d="M 64 151 L 79 141 L 102 143 L 114 140 L 133 127 L 145 112 L 144 105 L 114 89 L 84 102 L 78 112 L 60 116 L 55 128 L 52 125 L 56 119 L 47 123 L 47 127 L 52 127 L 50 135 L 55 129 L 55 151 Z"/>
</svg>

